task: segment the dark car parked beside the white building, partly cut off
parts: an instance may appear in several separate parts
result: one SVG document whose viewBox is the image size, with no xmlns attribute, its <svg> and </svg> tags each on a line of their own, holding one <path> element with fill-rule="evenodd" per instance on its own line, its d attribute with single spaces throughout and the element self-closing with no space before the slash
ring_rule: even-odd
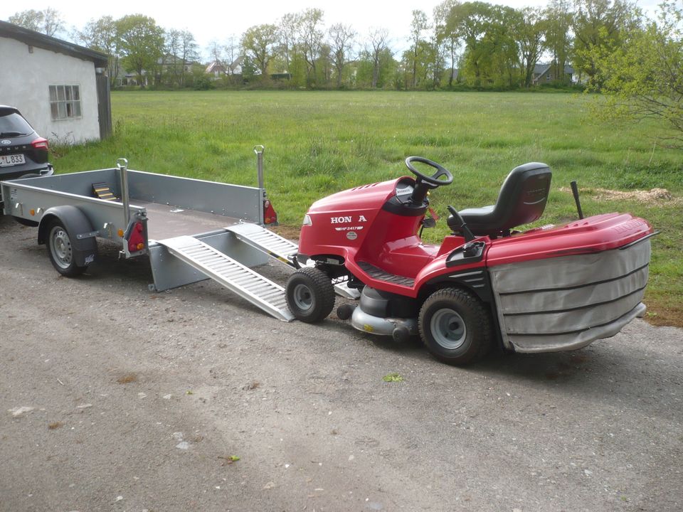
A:
<svg viewBox="0 0 683 512">
<path fill-rule="evenodd" d="M 0 105 L 0 181 L 53 174 L 48 141 L 14 107 Z"/>
</svg>

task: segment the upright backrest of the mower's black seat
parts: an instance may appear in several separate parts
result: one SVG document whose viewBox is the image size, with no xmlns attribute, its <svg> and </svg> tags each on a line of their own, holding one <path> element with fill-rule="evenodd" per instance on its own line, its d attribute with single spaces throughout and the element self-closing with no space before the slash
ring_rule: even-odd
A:
<svg viewBox="0 0 683 512">
<path fill-rule="evenodd" d="M 493 215 L 502 229 L 534 222 L 546 209 L 552 173 L 549 166 L 531 162 L 515 167 L 507 175 L 496 200 Z"/>
</svg>

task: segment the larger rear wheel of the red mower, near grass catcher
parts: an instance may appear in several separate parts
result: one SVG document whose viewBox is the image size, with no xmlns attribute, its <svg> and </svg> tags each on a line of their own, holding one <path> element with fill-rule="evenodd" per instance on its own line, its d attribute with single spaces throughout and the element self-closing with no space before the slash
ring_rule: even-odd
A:
<svg viewBox="0 0 683 512">
<path fill-rule="evenodd" d="M 429 351 L 444 363 L 473 363 L 491 347 L 489 311 L 464 289 L 444 288 L 431 294 L 420 308 L 418 328 Z"/>
</svg>

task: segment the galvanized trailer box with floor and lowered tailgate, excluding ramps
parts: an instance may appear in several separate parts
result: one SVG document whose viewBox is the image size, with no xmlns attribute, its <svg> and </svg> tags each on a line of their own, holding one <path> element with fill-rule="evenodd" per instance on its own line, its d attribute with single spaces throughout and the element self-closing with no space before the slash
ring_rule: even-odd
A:
<svg viewBox="0 0 683 512">
<path fill-rule="evenodd" d="M 171 255 L 164 240 L 188 235 L 223 252 L 246 267 L 268 262 L 268 253 L 238 239 L 226 228 L 242 223 L 263 225 L 263 188 L 180 178 L 142 171 L 126 171 L 129 218 L 147 219 L 147 250 L 154 284 L 162 291 L 204 279 L 179 257 Z M 8 215 L 39 223 L 49 208 L 75 206 L 90 220 L 87 236 L 125 243 L 120 233 L 127 225 L 122 201 L 122 169 L 100 169 L 74 174 L 26 178 L 0 183 Z M 95 197 L 103 184 L 113 199 Z M 80 233 L 77 235 L 81 235 Z"/>
</svg>

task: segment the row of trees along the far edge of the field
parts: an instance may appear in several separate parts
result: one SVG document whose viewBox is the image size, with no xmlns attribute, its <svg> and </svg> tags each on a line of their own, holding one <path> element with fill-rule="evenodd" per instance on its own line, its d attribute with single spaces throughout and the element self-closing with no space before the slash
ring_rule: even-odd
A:
<svg viewBox="0 0 683 512">
<path fill-rule="evenodd" d="M 9 21 L 50 36 L 65 31 L 51 8 L 22 11 Z M 351 25 L 326 26 L 321 9 L 305 9 L 213 41 L 206 50 L 223 85 L 273 85 L 280 78 L 285 84 L 279 86 L 297 88 L 516 89 L 533 85 L 541 61 L 552 65 L 554 82 L 570 81 L 568 65 L 576 75 L 593 78 L 595 50 L 615 50 L 640 21 L 642 14 L 627 0 L 550 0 L 544 8 L 524 9 L 444 0 L 430 15 L 412 12 L 403 41 L 408 48 L 396 52 L 386 28 L 360 36 Z M 194 72 L 186 65 L 200 60 L 194 35 L 164 29 L 152 17 L 102 16 L 68 35 L 111 56 L 112 85 L 122 70 L 151 86 L 206 82 L 199 80 L 206 65 Z"/>
</svg>

